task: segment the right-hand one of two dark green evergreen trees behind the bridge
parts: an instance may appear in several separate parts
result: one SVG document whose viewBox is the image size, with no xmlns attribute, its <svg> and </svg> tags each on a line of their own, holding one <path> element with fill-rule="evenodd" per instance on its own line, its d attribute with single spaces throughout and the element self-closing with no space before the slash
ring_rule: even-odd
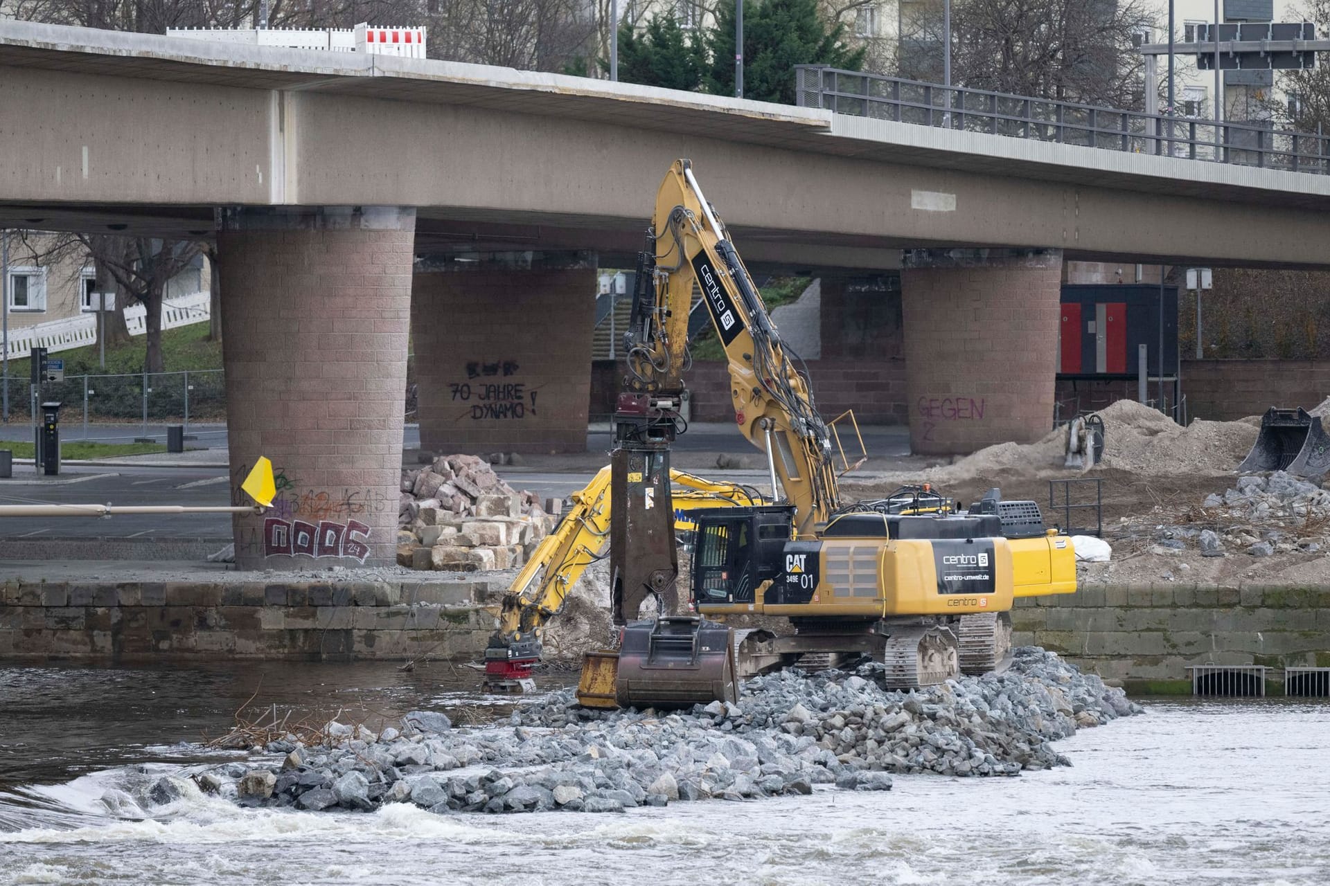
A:
<svg viewBox="0 0 1330 886">
<path fill-rule="evenodd" d="M 743 97 L 793 105 L 794 65 L 859 70 L 864 49 L 842 41 L 845 25 L 827 23 L 817 0 L 743 0 Z M 712 53 L 706 89 L 734 94 L 734 4 L 722 0 L 708 35 Z"/>
</svg>

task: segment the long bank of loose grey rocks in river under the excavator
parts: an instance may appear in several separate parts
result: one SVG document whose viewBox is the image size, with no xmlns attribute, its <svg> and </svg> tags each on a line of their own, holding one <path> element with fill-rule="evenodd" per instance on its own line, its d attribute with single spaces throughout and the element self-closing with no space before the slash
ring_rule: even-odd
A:
<svg viewBox="0 0 1330 886">
<path fill-rule="evenodd" d="M 330 724 L 327 745 L 278 741 L 273 756 L 194 777 L 247 805 L 311 810 L 618 812 L 806 794 L 819 784 L 882 790 L 891 773 L 1013 776 L 1068 765 L 1053 740 L 1141 712 L 1035 647 L 1017 650 L 1005 673 L 923 691 L 884 689 L 879 673 L 871 664 L 791 669 L 749 681 L 737 705 L 682 712 L 589 711 L 565 689 L 491 727 L 452 729 L 428 712 L 378 735 Z"/>
</svg>

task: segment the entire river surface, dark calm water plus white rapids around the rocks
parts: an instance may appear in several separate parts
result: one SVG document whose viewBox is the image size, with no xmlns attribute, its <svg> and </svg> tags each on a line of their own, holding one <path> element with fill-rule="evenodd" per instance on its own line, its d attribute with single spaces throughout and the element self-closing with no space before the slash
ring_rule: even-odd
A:
<svg viewBox="0 0 1330 886">
<path fill-rule="evenodd" d="M 1072 768 L 900 776 L 890 793 L 705 801 L 624 814 L 239 809 L 186 796 L 113 818 L 202 760 L 254 693 L 343 720 L 504 711 L 451 669 L 391 664 L 0 667 L 0 883 L 1330 883 L 1330 705 L 1148 701 L 1081 731 Z M 257 689 L 257 692 L 255 692 Z M 186 743 L 186 744 L 177 744 Z"/>
</svg>

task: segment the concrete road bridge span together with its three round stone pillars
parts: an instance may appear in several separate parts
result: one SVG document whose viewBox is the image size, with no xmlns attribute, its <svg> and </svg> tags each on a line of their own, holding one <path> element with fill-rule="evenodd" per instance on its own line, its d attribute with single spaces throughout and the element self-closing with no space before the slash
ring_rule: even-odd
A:
<svg viewBox="0 0 1330 886">
<path fill-rule="evenodd" d="M 392 555 L 408 323 L 427 445 L 577 445 L 596 267 L 678 157 L 755 272 L 912 251 L 903 348 L 838 347 L 849 401 L 904 357 L 919 452 L 1047 429 L 1063 260 L 1330 268 L 1327 177 L 331 54 L 0 23 L 0 226 L 218 244 L 231 465 L 289 484 L 243 567 Z"/>
</svg>

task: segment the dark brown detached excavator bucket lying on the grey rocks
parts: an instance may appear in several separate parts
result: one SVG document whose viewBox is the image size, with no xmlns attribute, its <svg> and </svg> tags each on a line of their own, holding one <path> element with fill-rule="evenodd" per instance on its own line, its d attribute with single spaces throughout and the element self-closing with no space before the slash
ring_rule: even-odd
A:
<svg viewBox="0 0 1330 886">
<path fill-rule="evenodd" d="M 696 615 L 630 623 L 618 650 L 614 699 L 624 708 L 738 701 L 734 630 Z"/>
</svg>

